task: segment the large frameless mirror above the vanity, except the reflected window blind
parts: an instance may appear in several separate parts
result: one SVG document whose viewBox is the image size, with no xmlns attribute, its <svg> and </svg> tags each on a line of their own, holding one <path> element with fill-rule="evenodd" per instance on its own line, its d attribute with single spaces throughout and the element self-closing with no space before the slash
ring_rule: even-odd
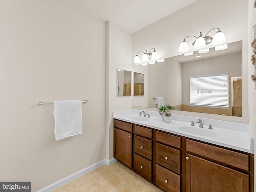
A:
<svg viewBox="0 0 256 192">
<path fill-rule="evenodd" d="M 135 65 L 132 70 L 145 74 L 144 98 L 133 96 L 134 106 L 157 108 L 153 98 L 165 97 L 165 104 L 176 110 L 242 116 L 242 41 L 228 44 L 225 50 L 210 48 L 204 54 L 195 51 L 190 56 L 166 58 L 162 63 Z M 216 74 L 228 74 L 228 107 L 191 105 L 190 77 Z M 208 97 L 212 94 L 209 89 L 204 92 Z"/>
</svg>

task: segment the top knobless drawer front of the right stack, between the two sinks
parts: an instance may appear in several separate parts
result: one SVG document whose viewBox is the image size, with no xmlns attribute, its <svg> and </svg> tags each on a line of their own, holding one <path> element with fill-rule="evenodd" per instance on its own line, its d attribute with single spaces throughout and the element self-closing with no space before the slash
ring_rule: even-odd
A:
<svg viewBox="0 0 256 192">
<path fill-rule="evenodd" d="M 174 135 L 156 131 L 156 141 L 181 148 L 181 138 Z"/>
</svg>

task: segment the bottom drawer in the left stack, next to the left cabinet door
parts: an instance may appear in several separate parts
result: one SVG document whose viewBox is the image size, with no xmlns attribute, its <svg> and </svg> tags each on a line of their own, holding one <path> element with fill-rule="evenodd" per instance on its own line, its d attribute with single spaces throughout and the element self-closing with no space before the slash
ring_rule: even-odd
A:
<svg viewBox="0 0 256 192">
<path fill-rule="evenodd" d="M 134 154 L 134 171 L 145 179 L 152 181 L 152 162 Z"/>
</svg>

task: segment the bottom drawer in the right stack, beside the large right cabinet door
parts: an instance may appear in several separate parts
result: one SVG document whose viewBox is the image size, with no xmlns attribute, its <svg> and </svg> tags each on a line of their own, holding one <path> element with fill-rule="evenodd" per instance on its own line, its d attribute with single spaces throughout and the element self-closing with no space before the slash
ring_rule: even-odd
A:
<svg viewBox="0 0 256 192">
<path fill-rule="evenodd" d="M 180 192 L 180 176 L 156 164 L 156 186 L 164 191 Z"/>
</svg>

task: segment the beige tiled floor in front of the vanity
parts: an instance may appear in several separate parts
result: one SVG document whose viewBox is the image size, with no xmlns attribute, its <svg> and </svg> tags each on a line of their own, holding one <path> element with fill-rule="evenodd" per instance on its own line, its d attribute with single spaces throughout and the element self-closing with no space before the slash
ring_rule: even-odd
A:
<svg viewBox="0 0 256 192">
<path fill-rule="evenodd" d="M 115 162 L 77 178 L 52 192 L 163 192 L 132 170 Z"/>
</svg>

